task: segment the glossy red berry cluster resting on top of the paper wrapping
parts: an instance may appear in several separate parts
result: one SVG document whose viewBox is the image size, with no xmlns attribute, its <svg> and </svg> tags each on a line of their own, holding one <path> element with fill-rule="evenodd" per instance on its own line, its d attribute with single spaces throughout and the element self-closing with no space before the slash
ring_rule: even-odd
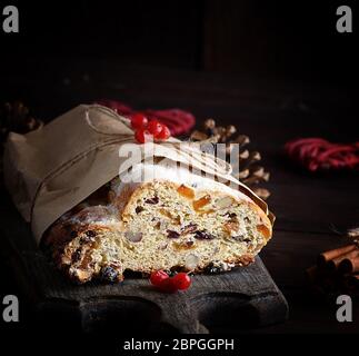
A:
<svg viewBox="0 0 359 356">
<path fill-rule="evenodd" d="M 171 136 L 166 125 L 156 119 L 148 120 L 141 112 L 131 115 L 131 126 L 134 129 L 134 138 L 140 144 L 153 140 L 164 141 Z"/>
</svg>

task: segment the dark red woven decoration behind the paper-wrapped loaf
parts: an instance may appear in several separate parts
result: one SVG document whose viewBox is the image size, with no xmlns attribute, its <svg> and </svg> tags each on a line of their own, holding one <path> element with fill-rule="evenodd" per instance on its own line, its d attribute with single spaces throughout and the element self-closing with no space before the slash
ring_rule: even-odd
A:
<svg viewBox="0 0 359 356">
<path fill-rule="evenodd" d="M 108 107 L 126 117 L 130 117 L 136 112 L 142 112 L 149 119 L 156 118 L 170 129 L 172 136 L 179 136 L 189 132 L 196 123 L 195 116 L 191 112 L 181 109 L 136 110 L 121 101 L 109 99 L 98 100 L 97 103 L 103 105 L 104 107 Z"/>
</svg>

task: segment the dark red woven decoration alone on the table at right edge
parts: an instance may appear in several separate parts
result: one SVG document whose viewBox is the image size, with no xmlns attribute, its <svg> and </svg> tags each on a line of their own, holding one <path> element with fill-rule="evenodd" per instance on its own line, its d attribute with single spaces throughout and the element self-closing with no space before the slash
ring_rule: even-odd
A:
<svg viewBox="0 0 359 356">
<path fill-rule="evenodd" d="M 285 146 L 287 155 L 311 171 L 359 169 L 359 142 L 331 144 L 322 138 L 301 138 Z"/>
</svg>

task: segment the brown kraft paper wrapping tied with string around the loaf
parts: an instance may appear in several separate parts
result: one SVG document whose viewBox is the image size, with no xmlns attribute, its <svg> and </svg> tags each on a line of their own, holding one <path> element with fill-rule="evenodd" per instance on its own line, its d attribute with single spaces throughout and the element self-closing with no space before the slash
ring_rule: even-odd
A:
<svg viewBox="0 0 359 356">
<path fill-rule="evenodd" d="M 136 144 L 128 119 L 98 105 L 80 105 L 27 135 L 9 135 L 4 181 L 38 244 L 61 215 L 119 175 L 127 159 L 119 157 L 124 142 Z M 141 145 L 141 150 L 144 155 L 150 149 L 154 157 L 181 161 L 235 184 L 272 218 L 266 202 L 230 175 L 228 164 L 203 157 L 191 147 L 179 149 L 179 144 L 171 138 Z"/>
</svg>

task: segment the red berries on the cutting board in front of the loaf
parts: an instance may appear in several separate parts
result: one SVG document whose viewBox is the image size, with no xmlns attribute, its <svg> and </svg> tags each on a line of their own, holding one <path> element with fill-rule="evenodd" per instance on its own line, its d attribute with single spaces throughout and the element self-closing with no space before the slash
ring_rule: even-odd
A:
<svg viewBox="0 0 359 356">
<path fill-rule="evenodd" d="M 151 284 L 163 293 L 174 293 L 188 289 L 191 285 L 191 278 L 186 273 L 179 273 L 170 277 L 164 270 L 157 270 L 151 274 Z"/>
</svg>

